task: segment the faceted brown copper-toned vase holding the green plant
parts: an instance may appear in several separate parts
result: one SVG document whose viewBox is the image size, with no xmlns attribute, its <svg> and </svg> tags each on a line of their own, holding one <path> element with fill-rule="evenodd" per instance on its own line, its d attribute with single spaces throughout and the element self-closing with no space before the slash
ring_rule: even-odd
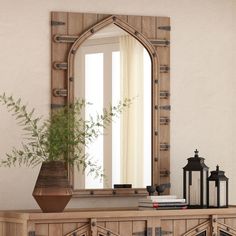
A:
<svg viewBox="0 0 236 236">
<path fill-rule="evenodd" d="M 62 212 L 72 197 L 67 166 L 62 161 L 43 162 L 33 197 L 43 212 Z"/>
</svg>

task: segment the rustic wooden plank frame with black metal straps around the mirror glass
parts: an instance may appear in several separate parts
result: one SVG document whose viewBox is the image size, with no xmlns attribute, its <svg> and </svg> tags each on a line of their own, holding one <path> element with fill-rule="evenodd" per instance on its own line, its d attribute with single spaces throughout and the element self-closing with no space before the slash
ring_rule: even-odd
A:
<svg viewBox="0 0 236 236">
<path fill-rule="evenodd" d="M 170 19 L 92 13 L 51 14 L 51 109 L 74 101 L 74 57 L 79 46 L 100 29 L 115 24 L 136 38 L 152 61 L 152 184 L 170 181 Z M 69 180 L 73 186 L 73 168 Z M 166 190 L 165 194 L 169 193 Z M 76 189 L 74 197 L 140 196 L 146 189 Z"/>
</svg>

